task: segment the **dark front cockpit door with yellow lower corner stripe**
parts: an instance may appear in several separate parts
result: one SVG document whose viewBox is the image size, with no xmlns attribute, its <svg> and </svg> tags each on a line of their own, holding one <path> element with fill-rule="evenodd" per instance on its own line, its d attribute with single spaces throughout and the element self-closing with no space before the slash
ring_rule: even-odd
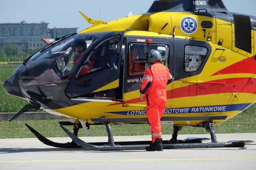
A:
<svg viewBox="0 0 256 170">
<path fill-rule="evenodd" d="M 116 100 L 119 86 L 122 35 L 108 37 L 94 44 L 83 58 L 66 89 L 70 98 Z M 92 68 L 84 73 L 84 68 Z"/>
</svg>

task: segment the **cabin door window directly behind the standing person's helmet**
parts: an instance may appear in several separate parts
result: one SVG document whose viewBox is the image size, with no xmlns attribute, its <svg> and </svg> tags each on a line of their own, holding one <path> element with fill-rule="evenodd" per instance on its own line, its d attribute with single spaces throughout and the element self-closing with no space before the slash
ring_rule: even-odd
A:
<svg viewBox="0 0 256 170">
<path fill-rule="evenodd" d="M 128 56 L 128 74 L 130 76 L 143 75 L 146 68 L 146 53 L 151 50 L 158 50 L 162 55 L 162 64 L 167 66 L 169 47 L 166 44 L 130 43 Z"/>
</svg>

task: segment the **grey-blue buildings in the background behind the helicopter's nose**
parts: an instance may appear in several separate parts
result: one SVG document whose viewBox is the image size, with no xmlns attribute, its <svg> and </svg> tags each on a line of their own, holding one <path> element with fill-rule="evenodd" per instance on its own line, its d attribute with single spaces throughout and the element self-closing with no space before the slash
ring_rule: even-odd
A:
<svg viewBox="0 0 256 170">
<path fill-rule="evenodd" d="M 48 28 L 44 21 L 41 23 L 0 23 L 0 47 L 4 48 L 7 43 L 12 43 L 15 39 L 16 45 L 21 51 L 40 49 L 46 45 L 50 39 L 63 37 L 71 33 L 77 33 L 76 28 Z M 49 41 L 47 41 L 49 40 Z"/>
</svg>

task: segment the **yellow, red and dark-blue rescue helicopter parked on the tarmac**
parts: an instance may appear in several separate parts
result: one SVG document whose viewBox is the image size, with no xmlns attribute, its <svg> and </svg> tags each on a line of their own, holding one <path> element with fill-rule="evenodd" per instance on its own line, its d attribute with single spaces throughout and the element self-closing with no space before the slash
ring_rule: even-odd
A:
<svg viewBox="0 0 256 170">
<path fill-rule="evenodd" d="M 244 147 L 252 141 L 218 142 L 214 125 L 238 115 L 256 102 L 256 17 L 229 12 L 222 0 L 156 0 L 144 14 L 92 26 L 46 45 L 26 59 L 4 82 L 6 93 L 30 109 L 69 119 L 59 122 L 72 142 L 56 143 L 26 126 L 44 144 L 88 150 L 145 149 L 150 141 L 114 142 L 111 125 L 147 123 L 146 103 L 139 97 L 145 53 L 155 49 L 173 76 L 167 85 L 162 124 L 173 126 L 164 149 Z M 72 42 L 83 40 L 86 51 L 74 65 Z M 130 54 L 136 48 L 136 59 Z M 90 63 L 92 69 L 84 73 Z M 104 124 L 107 143 L 86 143 L 78 130 Z M 64 125 L 72 125 L 73 132 Z M 178 140 L 184 127 L 204 127 L 208 138 Z"/>
</svg>

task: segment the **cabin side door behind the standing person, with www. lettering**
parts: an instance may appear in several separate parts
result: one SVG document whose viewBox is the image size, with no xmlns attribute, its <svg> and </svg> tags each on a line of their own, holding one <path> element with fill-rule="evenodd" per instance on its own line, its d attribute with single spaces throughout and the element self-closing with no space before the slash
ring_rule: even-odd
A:
<svg viewBox="0 0 256 170">
<path fill-rule="evenodd" d="M 140 99 L 140 88 L 146 64 L 145 54 L 151 49 L 158 50 L 162 55 L 162 64 L 167 66 L 172 74 L 173 44 L 169 38 L 126 37 L 123 45 L 125 50 L 124 69 L 124 104 L 145 105 Z M 168 85 L 168 97 L 171 96 L 171 84 Z M 168 99 L 169 100 L 169 99 Z"/>
</svg>

